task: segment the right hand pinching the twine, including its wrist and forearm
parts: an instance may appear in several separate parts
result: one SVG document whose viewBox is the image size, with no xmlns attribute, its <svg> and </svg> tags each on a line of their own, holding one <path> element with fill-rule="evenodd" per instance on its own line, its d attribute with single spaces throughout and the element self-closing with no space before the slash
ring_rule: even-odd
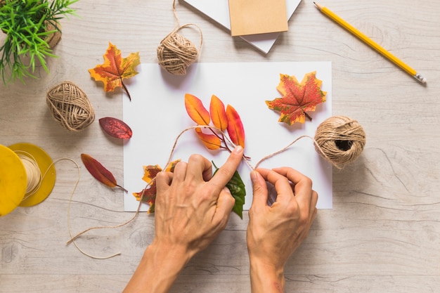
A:
<svg viewBox="0 0 440 293">
<path fill-rule="evenodd" d="M 292 168 L 257 169 L 251 173 L 254 200 L 249 211 L 247 250 L 252 293 L 284 292 L 284 266 L 301 245 L 316 216 L 318 194 L 310 178 Z M 276 202 L 267 204 L 266 181 Z"/>
</svg>

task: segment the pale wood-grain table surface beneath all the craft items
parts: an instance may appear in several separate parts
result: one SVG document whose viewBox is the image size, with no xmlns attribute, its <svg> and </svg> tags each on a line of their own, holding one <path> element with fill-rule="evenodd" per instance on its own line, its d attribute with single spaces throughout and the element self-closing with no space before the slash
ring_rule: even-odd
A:
<svg viewBox="0 0 440 293">
<path fill-rule="evenodd" d="M 440 287 L 440 2 L 358 0 L 321 3 L 358 27 L 423 74 L 418 84 L 341 27 L 302 1 L 268 55 L 179 3 L 181 24 L 203 33 L 198 62 L 331 61 L 333 115 L 363 125 L 361 157 L 333 170 L 333 209 L 321 209 L 309 237 L 286 266 L 287 292 L 438 292 Z M 39 79 L 0 84 L 0 143 L 34 143 L 53 159 L 81 162 L 82 152 L 105 161 L 123 178 L 123 145 L 97 122 L 80 133 L 56 124 L 46 91 L 75 82 L 89 96 L 96 117 L 122 118 L 121 91 L 104 93 L 89 68 L 103 63 L 108 41 L 122 55 L 139 52 L 156 63 L 156 48 L 175 25 L 172 0 L 81 0 L 80 18 L 62 20 L 59 58 Z M 197 40 L 197 33 L 186 36 Z M 191 35 L 193 34 L 193 35 Z M 3 39 L 0 36 L 0 41 Z M 82 166 L 82 164 L 81 164 Z M 69 240 L 67 205 L 77 180 L 70 161 L 56 164 L 53 192 L 43 203 L 0 218 L 0 292 L 121 292 L 153 239 L 154 218 L 142 213 L 118 229 L 95 230 Z M 127 221 L 122 191 L 110 190 L 84 167 L 72 200 L 70 223 L 79 232 Z M 172 292 L 250 292 L 244 219 L 231 217 L 226 230 L 183 270 Z M 154 275 L 151 276 L 154 278 Z"/>
</svg>

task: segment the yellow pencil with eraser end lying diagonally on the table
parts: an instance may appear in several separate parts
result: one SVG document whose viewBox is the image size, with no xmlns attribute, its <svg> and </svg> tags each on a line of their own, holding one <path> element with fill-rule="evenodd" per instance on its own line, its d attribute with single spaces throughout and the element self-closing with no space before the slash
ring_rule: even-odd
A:
<svg viewBox="0 0 440 293">
<path fill-rule="evenodd" d="M 359 30 L 357 30 L 355 27 L 350 25 L 347 21 L 343 20 L 342 18 L 339 18 L 339 16 L 337 16 L 335 13 L 330 11 L 328 8 L 323 7 L 315 2 L 313 2 L 313 4 L 316 5 L 316 8 L 318 8 L 319 11 L 321 11 L 322 13 L 327 15 L 328 18 L 330 18 L 331 20 L 335 21 L 337 24 L 344 27 L 344 29 L 351 32 L 351 34 L 354 34 L 356 37 L 361 39 L 365 44 L 368 44 L 371 48 L 374 48 L 377 52 L 381 53 L 385 58 L 392 61 L 397 66 L 401 67 L 401 69 L 405 70 L 406 72 L 408 72 L 408 74 L 410 74 L 415 79 L 417 79 L 418 82 L 420 82 L 421 84 L 427 83 L 427 80 L 425 77 L 422 77 L 422 75 L 418 74 L 415 70 L 413 70 L 413 68 L 411 68 L 410 66 L 403 63 L 401 60 L 399 60 L 399 58 L 394 56 L 392 53 L 389 53 L 389 51 L 382 48 L 382 46 L 377 44 L 375 41 L 373 41 L 369 37 L 365 36 L 365 34 L 363 34 L 362 32 L 359 32 Z"/>
</svg>

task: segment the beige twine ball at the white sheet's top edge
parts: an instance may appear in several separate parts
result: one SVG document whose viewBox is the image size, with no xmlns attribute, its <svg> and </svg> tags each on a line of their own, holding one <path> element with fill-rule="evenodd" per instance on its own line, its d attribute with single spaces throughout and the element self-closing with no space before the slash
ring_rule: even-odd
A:
<svg viewBox="0 0 440 293">
<path fill-rule="evenodd" d="M 159 65 L 171 74 L 184 75 L 186 69 L 197 60 L 198 49 L 181 34 L 173 32 L 157 47 Z"/>
</svg>

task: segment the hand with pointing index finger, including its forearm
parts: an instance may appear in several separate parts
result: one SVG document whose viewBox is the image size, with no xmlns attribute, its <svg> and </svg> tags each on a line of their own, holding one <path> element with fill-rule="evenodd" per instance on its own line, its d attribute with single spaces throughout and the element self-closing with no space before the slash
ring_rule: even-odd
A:
<svg viewBox="0 0 440 293">
<path fill-rule="evenodd" d="M 174 173 L 157 174 L 155 237 L 124 293 L 168 292 L 191 257 L 224 230 L 235 203 L 226 183 L 242 155 L 243 149 L 235 148 L 214 176 L 201 155 L 179 162 Z"/>
</svg>

